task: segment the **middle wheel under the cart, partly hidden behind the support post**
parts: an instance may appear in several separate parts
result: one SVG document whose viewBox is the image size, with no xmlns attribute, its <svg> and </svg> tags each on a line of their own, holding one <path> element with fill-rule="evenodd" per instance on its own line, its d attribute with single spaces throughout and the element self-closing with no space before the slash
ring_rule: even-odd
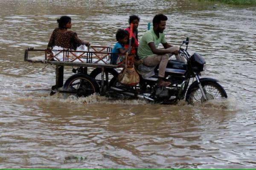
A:
<svg viewBox="0 0 256 170">
<path fill-rule="evenodd" d="M 95 79 L 95 81 L 99 85 L 99 88 L 101 88 L 101 80 L 102 80 L 101 74 L 102 74 L 101 68 L 96 68 L 90 73 L 90 77 Z M 113 68 L 105 68 L 104 69 L 104 85 L 106 85 L 106 74 L 108 74 L 108 81 L 110 81 L 113 77 L 117 77 L 118 72 Z"/>
</svg>

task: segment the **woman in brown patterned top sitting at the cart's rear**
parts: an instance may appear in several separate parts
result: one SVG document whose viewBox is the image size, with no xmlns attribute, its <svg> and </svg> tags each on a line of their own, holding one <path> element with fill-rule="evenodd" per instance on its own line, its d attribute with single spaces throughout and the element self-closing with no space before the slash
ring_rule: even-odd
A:
<svg viewBox="0 0 256 170">
<path fill-rule="evenodd" d="M 72 26 L 71 18 L 62 16 L 57 20 L 58 28 L 52 32 L 47 48 L 59 46 L 76 50 L 79 45 L 89 45 L 88 41 L 82 41 L 77 37 L 76 32 L 68 31 Z"/>
</svg>

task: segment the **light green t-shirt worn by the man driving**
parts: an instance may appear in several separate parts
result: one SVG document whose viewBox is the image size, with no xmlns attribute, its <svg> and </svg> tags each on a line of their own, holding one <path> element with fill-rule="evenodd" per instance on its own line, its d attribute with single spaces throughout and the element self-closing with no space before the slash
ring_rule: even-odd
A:
<svg viewBox="0 0 256 170">
<path fill-rule="evenodd" d="M 142 36 L 139 47 L 138 47 L 138 56 L 140 57 L 140 59 L 143 59 L 146 56 L 153 54 L 153 52 L 151 51 L 148 45 L 149 42 L 154 42 L 156 48 L 158 48 L 158 45 L 160 43 L 161 44 L 166 43 L 166 39 L 163 33 L 159 33 L 159 38 L 158 38 L 152 28 L 146 31 L 145 34 Z"/>
</svg>

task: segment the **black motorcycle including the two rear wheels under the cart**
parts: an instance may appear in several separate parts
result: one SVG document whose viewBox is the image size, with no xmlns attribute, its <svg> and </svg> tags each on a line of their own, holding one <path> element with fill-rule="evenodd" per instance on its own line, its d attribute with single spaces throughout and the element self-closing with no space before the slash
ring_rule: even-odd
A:
<svg viewBox="0 0 256 170">
<path fill-rule="evenodd" d="M 181 48 L 184 44 L 186 45 L 186 49 Z M 84 88 L 81 88 L 80 83 L 80 88 L 75 89 L 80 96 L 88 95 L 88 89 L 91 89 L 87 87 L 89 85 L 93 87 L 93 92 L 99 92 L 100 89 L 106 88 L 106 94 L 111 97 L 131 96 L 133 98 L 145 99 L 161 104 L 175 104 L 178 100 L 183 100 L 185 98 L 188 104 L 197 105 L 198 103 L 204 103 L 212 99 L 227 98 L 226 91 L 218 83 L 218 80 L 200 77 L 201 72 L 206 69 L 206 62 L 204 58 L 196 52 L 190 55 L 187 51 L 188 45 L 189 38 L 187 37 L 187 39 L 180 45 L 179 51 L 180 56 L 187 60 L 186 63 L 169 59 L 165 71 L 166 80 L 171 82 L 171 85 L 168 87 L 157 86 L 158 68 L 155 68 L 154 76 L 145 79 L 140 76 L 140 83 L 136 86 L 120 84 L 117 81 L 118 72 L 113 68 L 105 69 L 105 75 L 110 77 L 111 80 L 110 82 L 105 80 L 104 83 L 102 83 L 102 71 L 101 69 L 96 68 L 89 76 L 80 75 L 80 73 L 70 77 L 65 82 L 64 89 L 70 91 L 72 85 L 77 84 L 74 83 L 75 80 L 80 79 L 82 76 L 87 77 L 87 81 L 83 80 L 83 82 L 87 83 L 84 84 Z M 191 79 L 192 83 L 189 85 Z M 98 85 L 95 85 L 95 82 L 97 82 Z M 93 92 L 89 91 L 89 94 Z"/>
</svg>

